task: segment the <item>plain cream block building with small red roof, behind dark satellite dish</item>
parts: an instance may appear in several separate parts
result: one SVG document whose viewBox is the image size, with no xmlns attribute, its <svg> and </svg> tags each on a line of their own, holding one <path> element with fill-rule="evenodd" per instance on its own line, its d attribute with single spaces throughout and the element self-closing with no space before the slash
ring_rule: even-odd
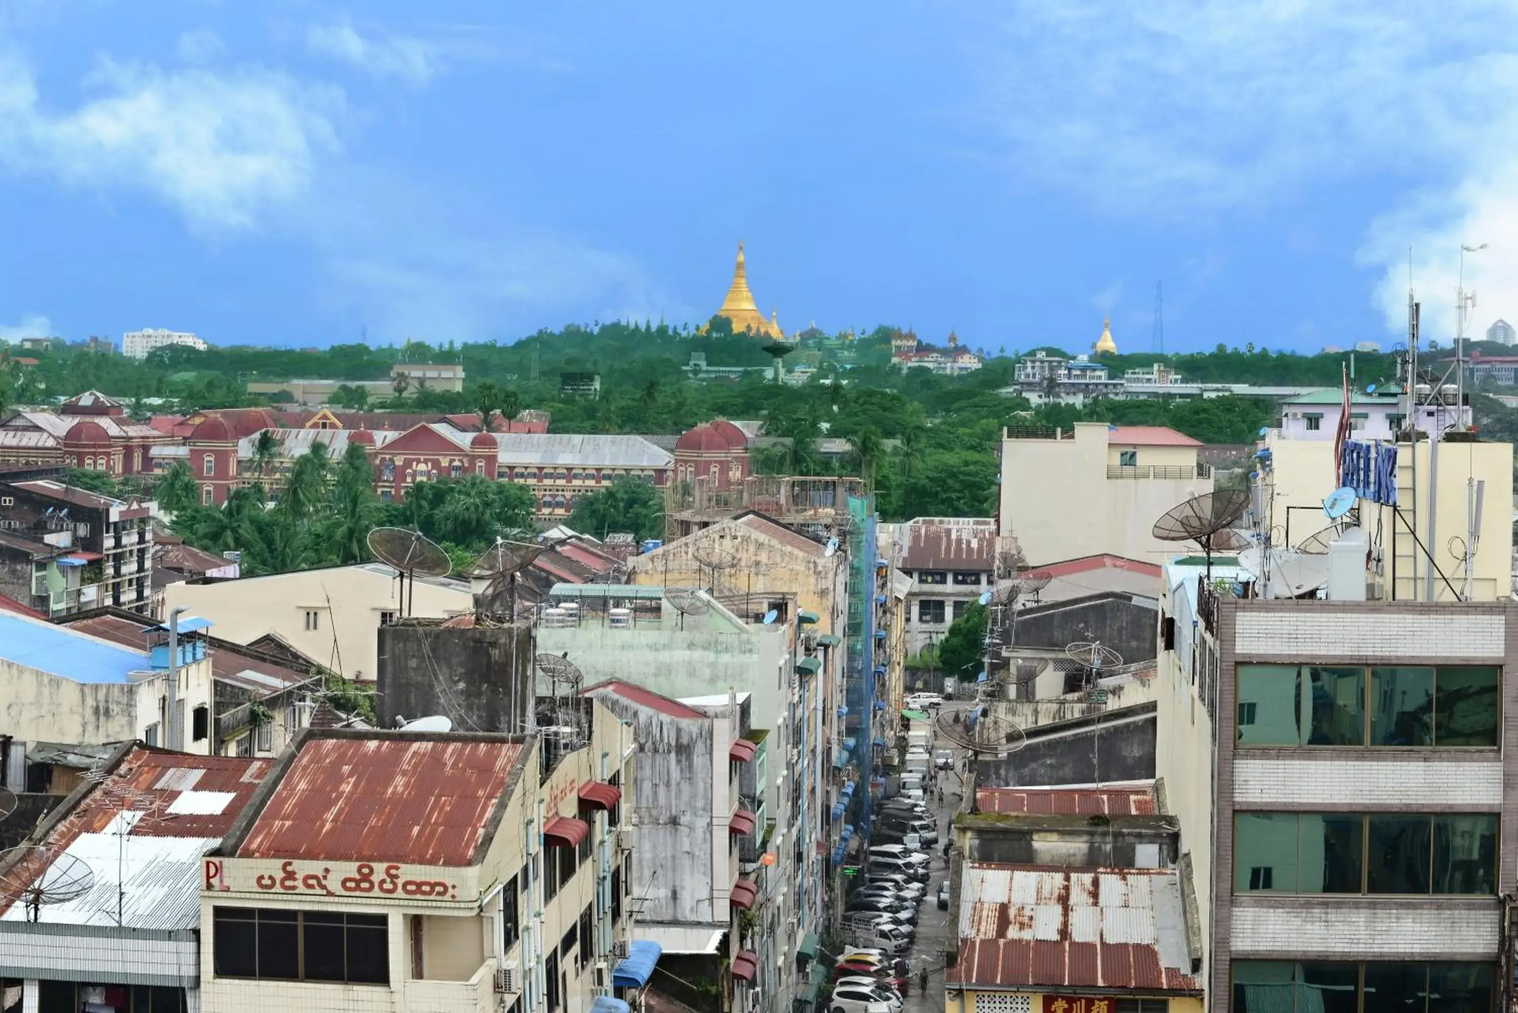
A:
<svg viewBox="0 0 1518 1013">
<path fill-rule="evenodd" d="M 1076 422 L 1002 431 L 1000 533 L 1029 565 L 1102 553 L 1163 562 L 1161 513 L 1213 491 L 1201 443 L 1161 425 Z"/>
</svg>

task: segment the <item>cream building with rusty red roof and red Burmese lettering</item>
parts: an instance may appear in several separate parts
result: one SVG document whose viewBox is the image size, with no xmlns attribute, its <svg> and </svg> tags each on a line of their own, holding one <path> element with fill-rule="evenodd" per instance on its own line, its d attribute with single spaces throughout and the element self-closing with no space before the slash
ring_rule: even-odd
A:
<svg viewBox="0 0 1518 1013">
<path fill-rule="evenodd" d="M 589 1013 L 645 984 L 631 735 L 600 703 L 587 721 L 572 741 L 298 737 L 203 860 L 203 1013 Z"/>
</svg>

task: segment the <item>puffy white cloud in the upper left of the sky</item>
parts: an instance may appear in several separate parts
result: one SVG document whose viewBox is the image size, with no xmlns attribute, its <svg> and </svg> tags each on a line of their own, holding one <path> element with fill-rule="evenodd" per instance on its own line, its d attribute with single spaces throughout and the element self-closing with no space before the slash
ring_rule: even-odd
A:
<svg viewBox="0 0 1518 1013">
<path fill-rule="evenodd" d="M 97 94 L 55 112 L 0 55 L 0 167 L 147 193 L 203 231 L 247 229 L 307 190 L 337 147 L 343 96 L 261 67 L 164 71 L 102 61 Z"/>
</svg>

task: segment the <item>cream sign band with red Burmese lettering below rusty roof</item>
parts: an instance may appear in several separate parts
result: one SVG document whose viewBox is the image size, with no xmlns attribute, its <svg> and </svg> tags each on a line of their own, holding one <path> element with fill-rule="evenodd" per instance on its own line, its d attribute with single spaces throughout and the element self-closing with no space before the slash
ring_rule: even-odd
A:
<svg viewBox="0 0 1518 1013">
<path fill-rule="evenodd" d="M 202 887 L 209 892 L 269 896 L 384 898 L 396 901 L 458 901 L 460 884 L 448 870 L 399 863 L 249 863 L 203 860 Z"/>
</svg>

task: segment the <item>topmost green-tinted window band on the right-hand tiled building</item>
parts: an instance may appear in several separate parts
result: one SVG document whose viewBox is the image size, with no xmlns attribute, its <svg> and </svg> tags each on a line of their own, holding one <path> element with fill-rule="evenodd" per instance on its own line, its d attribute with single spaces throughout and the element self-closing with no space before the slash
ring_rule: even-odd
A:
<svg viewBox="0 0 1518 1013">
<path fill-rule="evenodd" d="M 1497 746 L 1501 671 L 1239 665 L 1243 746 Z"/>
</svg>

